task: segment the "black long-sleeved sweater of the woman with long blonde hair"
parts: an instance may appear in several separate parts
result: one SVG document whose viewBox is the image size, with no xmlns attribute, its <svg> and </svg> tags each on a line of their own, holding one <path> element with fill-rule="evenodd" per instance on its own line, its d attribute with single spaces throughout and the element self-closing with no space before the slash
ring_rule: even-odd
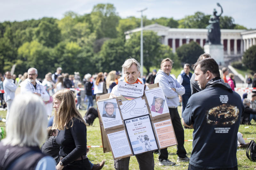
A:
<svg viewBox="0 0 256 170">
<path fill-rule="evenodd" d="M 86 126 L 83 122 L 73 118 L 68 123 L 69 129 L 60 130 L 56 137 L 57 144 L 60 145 L 60 156 L 63 157 L 61 162 L 67 165 L 82 155 L 86 155 Z"/>
</svg>

